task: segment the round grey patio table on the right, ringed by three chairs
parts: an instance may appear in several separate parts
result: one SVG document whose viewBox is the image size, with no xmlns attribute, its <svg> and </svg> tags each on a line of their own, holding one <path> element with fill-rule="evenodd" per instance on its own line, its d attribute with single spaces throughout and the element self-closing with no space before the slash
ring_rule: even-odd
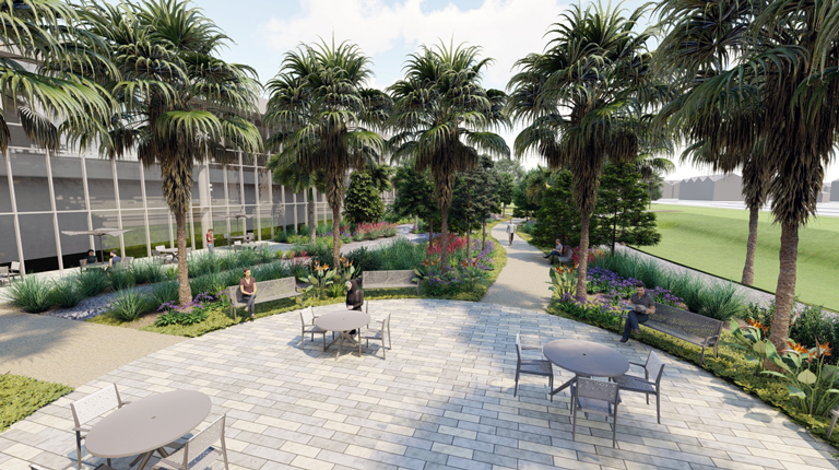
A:
<svg viewBox="0 0 839 470">
<path fill-rule="evenodd" d="M 545 344 L 542 353 L 552 363 L 575 374 L 572 379 L 553 390 L 552 397 L 570 386 L 577 376 L 616 377 L 629 371 L 629 361 L 623 354 L 591 341 L 554 340 Z"/>
</svg>

